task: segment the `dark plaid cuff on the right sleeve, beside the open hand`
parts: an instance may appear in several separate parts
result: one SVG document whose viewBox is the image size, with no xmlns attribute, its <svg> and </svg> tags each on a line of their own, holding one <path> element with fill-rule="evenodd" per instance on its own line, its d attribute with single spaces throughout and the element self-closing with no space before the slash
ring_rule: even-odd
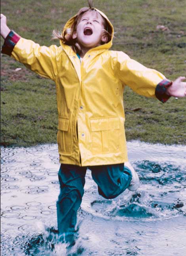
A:
<svg viewBox="0 0 186 256">
<path fill-rule="evenodd" d="M 164 79 L 156 86 L 155 95 L 161 102 L 165 103 L 171 97 L 166 94 L 166 91 L 172 83 L 171 80 Z"/>
</svg>

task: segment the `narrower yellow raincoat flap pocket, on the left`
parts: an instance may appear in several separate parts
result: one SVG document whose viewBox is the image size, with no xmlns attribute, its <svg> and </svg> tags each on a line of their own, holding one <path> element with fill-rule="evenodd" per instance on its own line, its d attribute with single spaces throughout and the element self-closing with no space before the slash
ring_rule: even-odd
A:
<svg viewBox="0 0 186 256">
<path fill-rule="evenodd" d="M 57 144 L 60 153 L 72 152 L 72 139 L 69 128 L 69 118 L 59 117 L 57 132 Z"/>
</svg>

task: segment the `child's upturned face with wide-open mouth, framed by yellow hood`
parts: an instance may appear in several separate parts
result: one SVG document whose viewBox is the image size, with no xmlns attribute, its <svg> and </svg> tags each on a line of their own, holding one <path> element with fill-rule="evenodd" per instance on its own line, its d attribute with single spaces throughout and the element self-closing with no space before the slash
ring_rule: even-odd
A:
<svg viewBox="0 0 186 256">
<path fill-rule="evenodd" d="M 77 38 L 82 50 L 89 50 L 107 42 L 107 36 L 103 35 L 104 20 L 97 11 L 85 12 L 73 33 L 73 39 Z"/>
</svg>

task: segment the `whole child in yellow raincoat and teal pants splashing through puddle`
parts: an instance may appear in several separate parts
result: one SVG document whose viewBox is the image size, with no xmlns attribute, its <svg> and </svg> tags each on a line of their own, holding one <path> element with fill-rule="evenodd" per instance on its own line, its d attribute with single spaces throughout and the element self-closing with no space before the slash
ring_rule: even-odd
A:
<svg viewBox="0 0 186 256">
<path fill-rule="evenodd" d="M 59 234 L 75 231 L 87 168 L 106 199 L 139 187 L 127 159 L 123 89 L 165 102 L 186 96 L 185 77 L 174 82 L 127 54 L 109 50 L 114 29 L 101 11 L 82 8 L 67 21 L 61 46 L 40 46 L 10 31 L 1 14 L 2 53 L 55 81 L 59 113 L 57 143 L 61 167 L 57 201 Z M 125 163 L 125 164 L 124 164 Z"/>
</svg>

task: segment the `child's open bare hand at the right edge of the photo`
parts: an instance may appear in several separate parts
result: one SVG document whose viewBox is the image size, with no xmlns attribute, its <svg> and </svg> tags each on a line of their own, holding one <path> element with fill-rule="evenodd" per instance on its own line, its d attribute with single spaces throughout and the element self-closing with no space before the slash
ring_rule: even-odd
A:
<svg viewBox="0 0 186 256">
<path fill-rule="evenodd" d="M 171 86 L 167 88 L 166 94 L 173 97 L 186 97 L 186 82 L 185 76 L 178 77 Z"/>
</svg>

